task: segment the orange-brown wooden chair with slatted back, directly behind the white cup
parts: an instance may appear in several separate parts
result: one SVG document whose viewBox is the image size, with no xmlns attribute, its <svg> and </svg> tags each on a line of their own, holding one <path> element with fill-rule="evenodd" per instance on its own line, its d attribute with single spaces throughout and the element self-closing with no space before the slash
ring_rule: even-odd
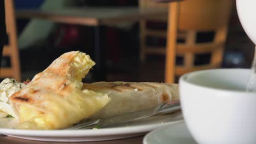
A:
<svg viewBox="0 0 256 144">
<path fill-rule="evenodd" d="M 223 61 L 232 0 L 185 0 L 169 4 L 165 82 L 195 70 L 219 68 Z M 185 32 L 185 43 L 177 43 L 177 32 Z M 214 32 L 213 41 L 196 43 L 198 32 Z M 210 63 L 195 65 L 195 55 L 211 53 Z M 183 65 L 176 65 L 182 56 Z"/>
</svg>

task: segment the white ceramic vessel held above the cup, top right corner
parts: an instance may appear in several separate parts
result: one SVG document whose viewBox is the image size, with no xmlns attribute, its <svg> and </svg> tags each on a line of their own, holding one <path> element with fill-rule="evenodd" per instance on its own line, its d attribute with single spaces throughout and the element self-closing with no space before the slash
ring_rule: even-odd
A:
<svg viewBox="0 0 256 144">
<path fill-rule="evenodd" d="M 236 0 L 236 8 L 240 22 L 249 38 L 256 44 L 256 1 Z"/>
</svg>

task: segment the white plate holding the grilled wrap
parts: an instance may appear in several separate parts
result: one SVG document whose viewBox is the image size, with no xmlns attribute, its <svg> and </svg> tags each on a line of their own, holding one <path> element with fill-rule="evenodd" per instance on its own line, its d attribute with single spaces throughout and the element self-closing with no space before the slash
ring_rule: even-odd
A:
<svg viewBox="0 0 256 144">
<path fill-rule="evenodd" d="M 16 119 L 0 118 L 0 134 L 20 139 L 38 141 L 82 142 L 123 139 L 144 135 L 148 131 L 182 120 L 181 113 L 175 115 L 153 116 L 136 122 L 116 125 L 112 128 L 85 130 L 21 130 L 13 129 Z"/>
</svg>

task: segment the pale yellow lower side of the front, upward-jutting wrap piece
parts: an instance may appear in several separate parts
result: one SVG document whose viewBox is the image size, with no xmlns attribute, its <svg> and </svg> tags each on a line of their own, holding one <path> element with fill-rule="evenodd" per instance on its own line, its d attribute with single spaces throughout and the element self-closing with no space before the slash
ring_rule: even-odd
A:
<svg viewBox="0 0 256 144">
<path fill-rule="evenodd" d="M 84 90 L 82 94 L 80 92 L 74 92 L 66 99 L 61 99 L 59 97 L 52 98 L 48 104 L 50 107 L 49 112 L 42 112 L 33 107 L 20 105 L 19 112 L 21 124 L 18 128 L 66 128 L 102 109 L 109 100 L 107 94 Z M 59 121 L 60 119 L 65 119 L 65 121 Z"/>
</svg>

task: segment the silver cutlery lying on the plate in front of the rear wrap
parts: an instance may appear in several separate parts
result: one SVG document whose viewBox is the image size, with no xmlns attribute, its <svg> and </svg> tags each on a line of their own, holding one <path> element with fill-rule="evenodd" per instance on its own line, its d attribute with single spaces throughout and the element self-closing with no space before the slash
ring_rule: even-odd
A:
<svg viewBox="0 0 256 144">
<path fill-rule="evenodd" d="M 136 121 L 138 119 L 147 118 L 154 115 L 164 115 L 166 113 L 172 113 L 179 110 L 181 110 L 179 100 L 168 101 L 166 103 L 156 105 L 150 109 L 124 113 L 123 115 L 107 117 L 102 119 L 95 119 L 92 121 L 76 124 L 73 127 L 69 127 L 67 129 L 90 129 L 95 127 L 106 127 L 109 125 Z"/>
</svg>

